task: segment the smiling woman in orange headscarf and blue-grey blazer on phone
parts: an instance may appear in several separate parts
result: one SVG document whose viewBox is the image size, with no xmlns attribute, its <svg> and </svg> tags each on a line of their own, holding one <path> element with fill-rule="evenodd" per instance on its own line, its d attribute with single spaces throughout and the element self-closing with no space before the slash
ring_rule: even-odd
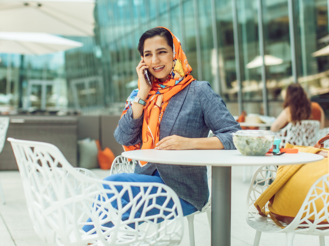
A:
<svg viewBox="0 0 329 246">
<path fill-rule="evenodd" d="M 117 142 L 126 151 L 234 149 L 231 134 L 241 129 L 240 124 L 208 82 L 192 77 L 174 34 L 162 27 L 150 29 L 140 37 L 138 51 L 138 89 L 126 101 L 114 132 Z M 145 80 L 144 69 L 148 69 L 152 86 Z M 215 136 L 207 138 L 210 129 Z M 206 166 L 139 161 L 134 174 L 111 175 L 105 180 L 166 184 L 180 198 L 185 216 L 201 211 L 209 198 Z"/>
</svg>

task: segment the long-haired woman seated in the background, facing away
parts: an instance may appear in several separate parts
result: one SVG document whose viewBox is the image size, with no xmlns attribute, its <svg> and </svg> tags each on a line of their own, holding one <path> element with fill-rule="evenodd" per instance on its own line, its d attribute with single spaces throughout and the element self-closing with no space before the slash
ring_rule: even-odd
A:
<svg viewBox="0 0 329 246">
<path fill-rule="evenodd" d="M 271 130 L 278 131 L 289 122 L 301 120 L 318 120 L 320 128 L 324 127 L 324 111 L 318 103 L 310 102 L 300 84 L 290 84 L 283 103 L 283 111 L 272 124 Z"/>
</svg>

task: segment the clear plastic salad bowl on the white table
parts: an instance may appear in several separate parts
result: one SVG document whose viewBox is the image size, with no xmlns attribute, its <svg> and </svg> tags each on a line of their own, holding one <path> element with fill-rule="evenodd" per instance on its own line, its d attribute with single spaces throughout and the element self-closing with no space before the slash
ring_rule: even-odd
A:
<svg viewBox="0 0 329 246">
<path fill-rule="evenodd" d="M 274 140 L 274 134 L 268 130 L 238 130 L 232 135 L 236 149 L 245 156 L 264 156 Z"/>
</svg>

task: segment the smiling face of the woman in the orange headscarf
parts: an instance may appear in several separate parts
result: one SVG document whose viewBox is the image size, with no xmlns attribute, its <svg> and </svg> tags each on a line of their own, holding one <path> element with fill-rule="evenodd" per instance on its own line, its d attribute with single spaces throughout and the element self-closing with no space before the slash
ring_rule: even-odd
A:
<svg viewBox="0 0 329 246">
<path fill-rule="evenodd" d="M 165 82 L 173 68 L 173 50 L 160 36 L 144 42 L 144 62 L 149 72 L 160 82 Z"/>
</svg>

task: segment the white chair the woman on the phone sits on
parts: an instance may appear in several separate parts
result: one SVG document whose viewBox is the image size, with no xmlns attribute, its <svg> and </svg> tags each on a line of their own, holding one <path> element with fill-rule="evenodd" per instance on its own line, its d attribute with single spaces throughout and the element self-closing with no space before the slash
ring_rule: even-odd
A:
<svg viewBox="0 0 329 246">
<path fill-rule="evenodd" d="M 123 156 L 118 156 L 114 159 L 111 166 L 112 174 L 120 174 L 120 173 L 134 173 L 135 165 L 137 161 L 131 160 L 129 161 L 127 158 Z M 208 176 L 208 186 L 209 186 L 209 200 L 207 204 L 202 208 L 202 211 L 197 211 L 193 214 L 186 216 L 189 223 L 189 238 L 190 238 L 190 246 L 195 245 L 194 240 L 194 215 L 207 212 L 209 227 L 211 228 L 211 166 L 207 166 L 207 176 Z"/>
</svg>

